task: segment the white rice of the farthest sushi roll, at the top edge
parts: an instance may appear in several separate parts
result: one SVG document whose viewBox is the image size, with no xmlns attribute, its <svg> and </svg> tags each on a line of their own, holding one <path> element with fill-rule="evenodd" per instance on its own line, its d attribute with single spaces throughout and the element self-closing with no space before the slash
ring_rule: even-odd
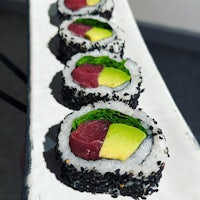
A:
<svg viewBox="0 0 200 200">
<path fill-rule="evenodd" d="M 99 3 L 94 6 L 87 6 L 79 10 L 72 11 L 65 6 L 64 1 L 65 0 L 58 0 L 58 10 L 63 15 L 71 16 L 88 15 L 93 13 L 94 11 L 104 13 L 105 11 L 112 11 L 114 7 L 113 0 L 100 0 Z"/>
</svg>

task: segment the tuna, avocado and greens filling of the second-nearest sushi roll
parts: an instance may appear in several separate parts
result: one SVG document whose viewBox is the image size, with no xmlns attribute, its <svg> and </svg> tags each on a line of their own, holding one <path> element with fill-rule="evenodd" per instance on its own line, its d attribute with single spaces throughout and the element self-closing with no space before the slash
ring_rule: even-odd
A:
<svg viewBox="0 0 200 200">
<path fill-rule="evenodd" d="M 76 63 L 72 77 L 84 88 L 107 86 L 116 88 L 130 82 L 131 76 L 124 61 L 116 62 L 108 56 L 85 56 Z"/>
</svg>

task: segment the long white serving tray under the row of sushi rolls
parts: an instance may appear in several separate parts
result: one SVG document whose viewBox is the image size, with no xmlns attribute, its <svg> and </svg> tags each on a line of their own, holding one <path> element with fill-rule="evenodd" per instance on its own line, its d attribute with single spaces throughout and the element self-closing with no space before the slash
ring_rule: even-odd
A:
<svg viewBox="0 0 200 200">
<path fill-rule="evenodd" d="M 28 168 L 24 197 L 29 200 L 113 200 L 110 195 L 81 193 L 56 178 L 53 155 L 55 136 L 49 133 L 71 110 L 51 94 L 53 77 L 63 65 L 48 48 L 58 27 L 50 23 L 56 0 L 30 1 L 30 125 L 28 133 Z M 125 31 L 125 56 L 142 67 L 145 91 L 139 107 L 158 122 L 167 138 L 171 157 L 166 163 L 159 192 L 148 200 L 199 200 L 200 149 L 177 109 L 143 41 L 127 0 L 115 0 L 113 19 Z M 55 131 L 50 131 L 54 132 Z M 49 133 L 49 134 L 48 134 Z M 55 138 L 54 138 L 55 139 Z M 30 152 L 29 152 L 30 150 Z M 131 199 L 118 197 L 118 200 Z"/>
</svg>

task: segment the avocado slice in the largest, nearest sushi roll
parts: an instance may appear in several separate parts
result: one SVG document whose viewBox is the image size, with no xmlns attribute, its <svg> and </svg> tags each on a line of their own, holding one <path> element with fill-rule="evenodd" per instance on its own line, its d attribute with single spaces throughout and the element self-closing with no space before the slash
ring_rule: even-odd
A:
<svg viewBox="0 0 200 200">
<path fill-rule="evenodd" d="M 137 150 L 145 138 L 146 133 L 136 127 L 113 123 L 108 129 L 99 157 L 126 160 Z"/>
</svg>

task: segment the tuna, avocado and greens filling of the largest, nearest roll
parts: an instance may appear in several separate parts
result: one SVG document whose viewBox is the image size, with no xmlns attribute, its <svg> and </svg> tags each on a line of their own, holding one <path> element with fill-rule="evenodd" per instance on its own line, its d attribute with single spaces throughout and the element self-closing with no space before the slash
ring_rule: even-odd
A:
<svg viewBox="0 0 200 200">
<path fill-rule="evenodd" d="M 78 127 L 74 128 L 69 140 L 72 152 L 86 160 L 128 159 L 145 139 L 146 133 L 133 126 L 137 126 L 136 120 L 131 122 L 132 118 L 121 115 L 113 110 L 101 109 L 76 119 L 72 127 Z M 126 123 L 123 118 L 130 121 Z M 138 123 L 138 126 L 141 127 L 141 124 Z"/>
</svg>

